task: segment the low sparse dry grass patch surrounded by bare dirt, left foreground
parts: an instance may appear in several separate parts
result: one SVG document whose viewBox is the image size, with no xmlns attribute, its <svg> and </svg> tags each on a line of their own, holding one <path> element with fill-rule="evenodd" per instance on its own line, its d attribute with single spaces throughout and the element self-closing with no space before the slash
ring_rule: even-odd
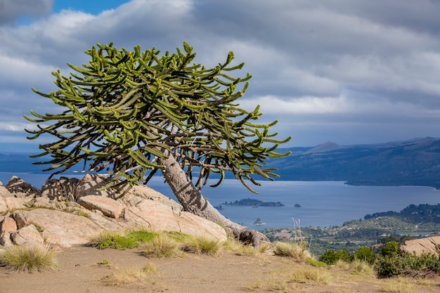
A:
<svg viewBox="0 0 440 293">
<path fill-rule="evenodd" d="M 125 268 L 117 273 L 111 273 L 101 278 L 101 282 L 107 286 L 119 286 L 122 284 L 129 284 L 141 280 L 148 280 L 149 273 L 155 273 L 156 267 L 150 263 L 144 268 Z"/>
</svg>

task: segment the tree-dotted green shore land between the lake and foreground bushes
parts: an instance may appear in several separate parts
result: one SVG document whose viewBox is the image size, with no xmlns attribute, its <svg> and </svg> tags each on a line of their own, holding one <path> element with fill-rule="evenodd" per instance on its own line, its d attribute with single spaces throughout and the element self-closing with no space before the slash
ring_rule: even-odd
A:
<svg viewBox="0 0 440 293">
<path fill-rule="evenodd" d="M 440 204 L 410 204 L 399 212 L 386 211 L 365 215 L 342 226 L 267 228 L 261 230 L 271 241 L 302 240 L 311 242 L 319 255 L 326 249 L 356 250 L 360 245 L 373 245 L 381 238 L 405 240 L 410 237 L 437 235 L 440 230 Z"/>
</svg>

